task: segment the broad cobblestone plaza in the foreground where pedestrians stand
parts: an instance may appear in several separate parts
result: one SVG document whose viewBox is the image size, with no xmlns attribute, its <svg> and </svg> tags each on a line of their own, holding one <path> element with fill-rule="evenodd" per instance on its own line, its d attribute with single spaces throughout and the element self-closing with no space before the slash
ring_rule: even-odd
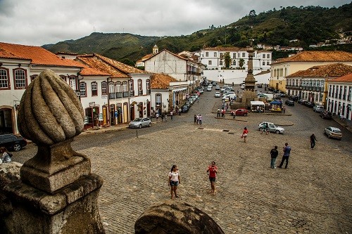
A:
<svg viewBox="0 0 352 234">
<path fill-rule="evenodd" d="M 244 143 L 243 126 L 185 123 L 80 150 L 104 179 L 99 207 L 106 233 L 134 233 L 144 209 L 170 199 L 172 164 L 181 175 L 177 200 L 206 212 L 225 233 L 352 233 L 351 155 L 321 143 L 310 150 L 299 137 L 259 131 L 250 131 Z M 292 147 L 288 169 L 270 169 L 270 149 L 282 150 L 286 141 Z M 213 160 L 220 171 L 216 195 L 208 194 L 206 174 Z"/>
</svg>

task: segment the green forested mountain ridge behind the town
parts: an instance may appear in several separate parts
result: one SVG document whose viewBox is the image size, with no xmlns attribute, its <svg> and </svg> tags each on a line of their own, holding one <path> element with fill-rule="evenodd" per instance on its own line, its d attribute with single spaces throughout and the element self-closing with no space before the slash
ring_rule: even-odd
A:
<svg viewBox="0 0 352 234">
<path fill-rule="evenodd" d="M 148 53 L 156 44 L 178 53 L 197 51 L 203 46 L 246 47 L 253 39 L 258 43 L 272 46 L 302 46 L 320 41 L 339 39 L 341 34 L 352 34 L 352 2 L 339 8 L 320 6 L 280 7 L 256 14 L 252 10 L 237 22 L 222 27 L 210 26 L 190 35 L 178 37 L 146 37 L 129 33 L 94 32 L 77 40 L 61 41 L 43 47 L 54 53 L 100 53 L 108 58 L 123 62 L 135 62 Z M 295 40 L 290 42 L 290 40 Z M 351 44 L 350 44 L 351 45 Z M 352 46 L 333 46 L 330 49 L 352 51 Z M 329 49 L 329 48 L 324 48 Z M 284 55 L 282 55 L 284 56 Z M 280 57 L 276 53 L 275 57 Z M 275 58 L 274 57 L 274 58 Z"/>
</svg>

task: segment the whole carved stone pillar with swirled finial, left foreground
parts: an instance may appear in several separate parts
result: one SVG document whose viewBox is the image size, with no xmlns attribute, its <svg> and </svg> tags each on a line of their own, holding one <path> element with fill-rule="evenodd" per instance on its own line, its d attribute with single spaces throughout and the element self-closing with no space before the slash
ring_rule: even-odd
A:
<svg viewBox="0 0 352 234">
<path fill-rule="evenodd" d="M 27 87 L 18 110 L 20 134 L 38 146 L 4 188 L 16 234 L 105 233 L 98 195 L 103 180 L 70 143 L 82 132 L 84 110 L 73 89 L 51 70 Z"/>
</svg>

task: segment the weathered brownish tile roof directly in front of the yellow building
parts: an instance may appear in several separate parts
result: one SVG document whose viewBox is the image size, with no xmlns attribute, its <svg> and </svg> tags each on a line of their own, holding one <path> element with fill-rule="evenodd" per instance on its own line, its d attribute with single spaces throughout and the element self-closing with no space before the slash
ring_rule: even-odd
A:
<svg viewBox="0 0 352 234">
<path fill-rule="evenodd" d="M 294 72 L 290 77 L 341 77 L 352 73 L 352 66 L 344 63 L 333 63 L 328 65 L 313 66 L 307 70 Z"/>
</svg>

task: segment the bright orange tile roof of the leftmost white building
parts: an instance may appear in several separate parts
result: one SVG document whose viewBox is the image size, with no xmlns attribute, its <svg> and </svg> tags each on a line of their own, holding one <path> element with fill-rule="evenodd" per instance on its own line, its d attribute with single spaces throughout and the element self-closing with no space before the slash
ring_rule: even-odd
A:
<svg viewBox="0 0 352 234">
<path fill-rule="evenodd" d="M 74 60 L 59 58 L 54 53 L 40 46 L 23 46 L 0 42 L 0 58 L 30 60 L 34 65 L 50 65 L 61 67 L 82 67 Z"/>
</svg>

